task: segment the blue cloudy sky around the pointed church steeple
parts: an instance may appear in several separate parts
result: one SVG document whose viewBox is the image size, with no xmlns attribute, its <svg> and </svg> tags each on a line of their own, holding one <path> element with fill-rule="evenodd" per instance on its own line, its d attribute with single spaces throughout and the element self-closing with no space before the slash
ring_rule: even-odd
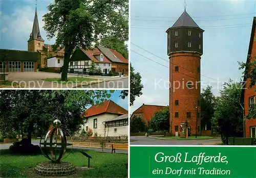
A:
<svg viewBox="0 0 256 178">
<path fill-rule="evenodd" d="M 37 14 L 42 38 L 46 44 L 54 44 L 55 39 L 48 40 L 42 29 L 42 16 L 47 13 L 47 6 L 52 1 L 38 0 Z M 2 0 L 0 4 L 0 48 L 28 50 L 28 39 L 35 16 L 35 0 Z"/>
</svg>

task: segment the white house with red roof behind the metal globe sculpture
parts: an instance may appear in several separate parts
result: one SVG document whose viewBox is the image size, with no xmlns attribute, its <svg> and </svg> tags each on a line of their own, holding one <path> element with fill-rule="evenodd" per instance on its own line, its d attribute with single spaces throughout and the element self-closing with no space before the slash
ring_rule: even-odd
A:
<svg viewBox="0 0 256 178">
<path fill-rule="evenodd" d="M 93 136 L 120 136 L 128 135 L 128 111 L 114 103 L 105 100 L 89 108 L 81 129 L 92 129 Z"/>
</svg>

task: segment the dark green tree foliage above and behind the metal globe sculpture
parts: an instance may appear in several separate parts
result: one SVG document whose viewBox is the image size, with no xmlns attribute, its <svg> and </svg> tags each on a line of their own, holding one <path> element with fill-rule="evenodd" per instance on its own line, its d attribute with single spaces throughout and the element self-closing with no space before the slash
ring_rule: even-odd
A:
<svg viewBox="0 0 256 178">
<path fill-rule="evenodd" d="M 53 120 L 59 119 L 70 134 L 79 130 L 89 105 L 110 97 L 107 90 L 2 90 L 0 91 L 0 131 L 45 134 Z"/>
</svg>

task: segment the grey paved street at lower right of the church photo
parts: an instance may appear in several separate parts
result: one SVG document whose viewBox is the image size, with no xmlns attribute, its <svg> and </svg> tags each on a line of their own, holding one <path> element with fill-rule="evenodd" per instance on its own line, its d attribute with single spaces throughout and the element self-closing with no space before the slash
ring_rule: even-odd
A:
<svg viewBox="0 0 256 178">
<path fill-rule="evenodd" d="M 129 87 L 129 78 L 102 82 L 98 84 L 86 85 L 77 88 L 128 88 Z"/>
</svg>

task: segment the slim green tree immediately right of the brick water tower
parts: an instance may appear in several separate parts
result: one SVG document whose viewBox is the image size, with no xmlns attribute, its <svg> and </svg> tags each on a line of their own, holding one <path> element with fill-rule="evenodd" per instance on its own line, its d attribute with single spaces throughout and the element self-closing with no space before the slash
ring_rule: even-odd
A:
<svg viewBox="0 0 256 178">
<path fill-rule="evenodd" d="M 201 125 L 206 125 L 207 130 L 211 128 L 211 119 L 214 117 L 216 108 L 216 97 L 211 91 L 212 87 L 207 86 L 201 93 Z"/>
</svg>

